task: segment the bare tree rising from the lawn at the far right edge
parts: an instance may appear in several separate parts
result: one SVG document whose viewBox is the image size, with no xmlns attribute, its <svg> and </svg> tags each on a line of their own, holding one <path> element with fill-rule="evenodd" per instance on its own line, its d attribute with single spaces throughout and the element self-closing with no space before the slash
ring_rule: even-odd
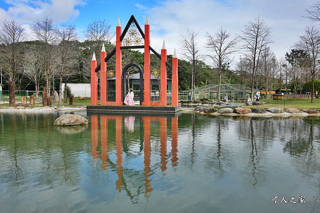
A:
<svg viewBox="0 0 320 213">
<path fill-rule="evenodd" d="M 309 56 L 308 69 L 311 77 L 311 103 L 315 103 L 314 80 L 319 71 L 320 60 L 320 31 L 315 25 L 307 26 L 299 36 L 296 48 L 304 50 Z"/>
</svg>

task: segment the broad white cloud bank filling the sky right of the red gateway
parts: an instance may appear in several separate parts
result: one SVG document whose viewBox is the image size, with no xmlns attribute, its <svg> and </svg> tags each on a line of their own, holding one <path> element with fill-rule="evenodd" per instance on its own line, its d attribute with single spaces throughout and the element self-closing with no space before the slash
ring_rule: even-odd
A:
<svg viewBox="0 0 320 213">
<path fill-rule="evenodd" d="M 199 31 L 199 44 L 204 46 L 205 34 L 213 34 L 219 27 L 228 32 L 241 34 L 244 25 L 254 22 L 258 15 L 273 27 L 271 48 L 277 57 L 290 51 L 301 33 L 310 22 L 303 18 L 305 9 L 313 0 L 167 0 L 147 11 L 151 29 L 151 46 L 162 45 L 165 39 L 168 54 L 177 48 L 179 54 L 180 33 Z M 203 48 L 203 52 L 206 49 Z M 210 60 L 207 64 L 212 65 Z"/>
</svg>

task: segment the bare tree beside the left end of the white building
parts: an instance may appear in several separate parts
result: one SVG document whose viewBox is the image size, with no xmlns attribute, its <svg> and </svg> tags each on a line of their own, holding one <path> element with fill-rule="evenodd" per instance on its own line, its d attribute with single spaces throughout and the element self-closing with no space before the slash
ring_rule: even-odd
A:
<svg viewBox="0 0 320 213">
<path fill-rule="evenodd" d="M 65 78 L 65 91 L 67 91 L 67 79 L 76 72 L 77 57 L 79 55 L 76 43 L 76 26 L 62 24 L 62 28 L 57 31 L 59 44 L 58 50 L 58 76 L 59 76 L 59 105 L 62 105 L 62 80 Z M 67 103 L 67 97 L 64 97 Z"/>
</svg>

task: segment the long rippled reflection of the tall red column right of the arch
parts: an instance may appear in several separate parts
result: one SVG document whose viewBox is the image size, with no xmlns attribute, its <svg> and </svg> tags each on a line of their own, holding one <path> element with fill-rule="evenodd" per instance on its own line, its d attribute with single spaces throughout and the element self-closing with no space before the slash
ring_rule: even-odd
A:
<svg viewBox="0 0 320 213">
<path fill-rule="evenodd" d="M 151 187 L 151 180 L 149 180 L 150 172 L 150 156 L 151 156 L 151 147 L 150 147 L 150 117 L 143 118 L 144 123 L 144 177 L 145 177 L 145 197 L 149 198 L 153 188 Z"/>
</svg>

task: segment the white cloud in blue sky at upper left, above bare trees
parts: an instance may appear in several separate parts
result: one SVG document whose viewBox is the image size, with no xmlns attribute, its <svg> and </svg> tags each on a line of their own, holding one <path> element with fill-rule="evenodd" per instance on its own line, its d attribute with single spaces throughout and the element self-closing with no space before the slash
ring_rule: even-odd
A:
<svg viewBox="0 0 320 213">
<path fill-rule="evenodd" d="M 5 16 L 24 23 L 32 23 L 36 20 L 42 20 L 45 17 L 52 18 L 55 24 L 75 19 L 79 16 L 79 10 L 76 5 L 84 5 L 82 0 L 7 0 L 10 5 Z M 0 15 L 2 11 L 0 11 Z"/>
</svg>

